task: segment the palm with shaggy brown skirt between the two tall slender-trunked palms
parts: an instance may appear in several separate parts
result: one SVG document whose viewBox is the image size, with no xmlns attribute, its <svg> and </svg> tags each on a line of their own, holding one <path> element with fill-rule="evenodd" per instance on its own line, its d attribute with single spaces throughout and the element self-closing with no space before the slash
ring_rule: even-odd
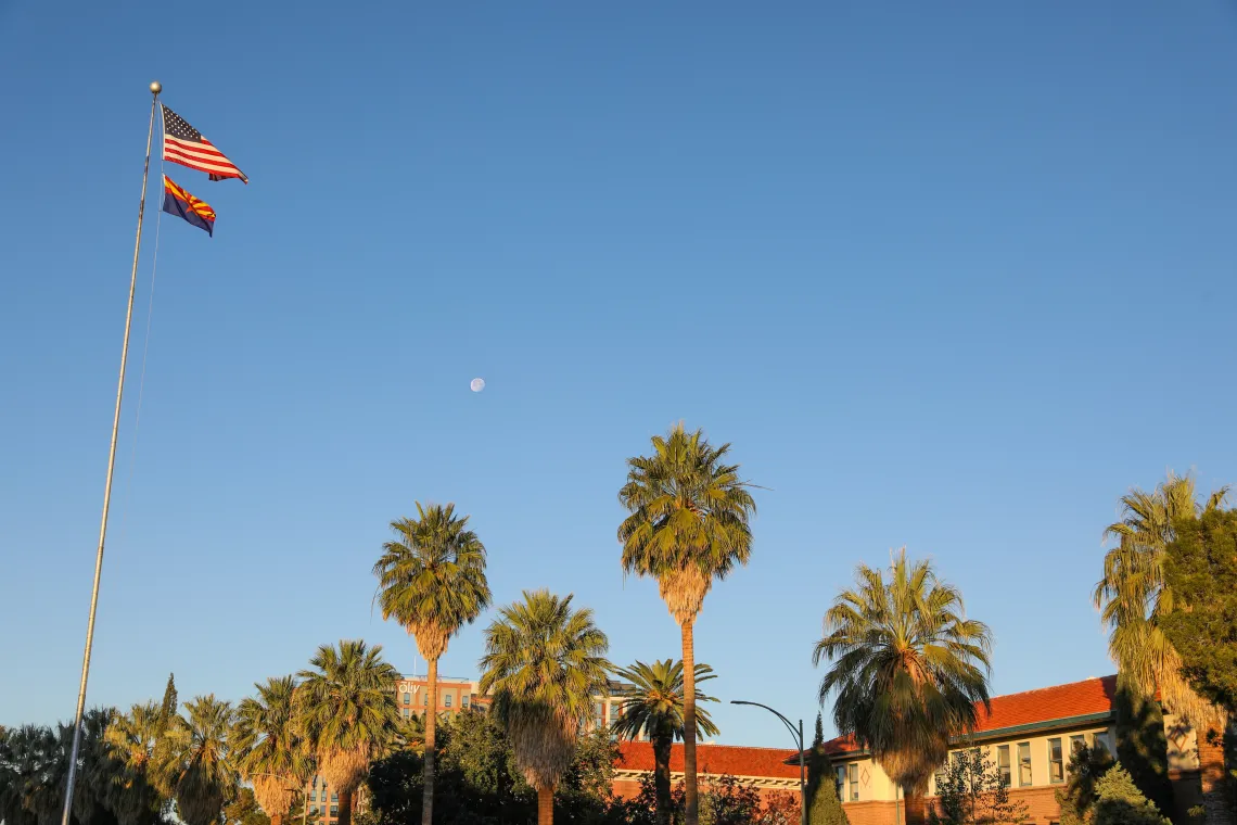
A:
<svg viewBox="0 0 1237 825">
<path fill-rule="evenodd" d="M 480 690 L 507 730 L 516 764 L 537 790 L 537 823 L 554 821 L 554 789 L 571 763 L 593 698 L 606 691 L 610 646 L 571 595 L 524 591 L 485 631 Z"/>
</svg>

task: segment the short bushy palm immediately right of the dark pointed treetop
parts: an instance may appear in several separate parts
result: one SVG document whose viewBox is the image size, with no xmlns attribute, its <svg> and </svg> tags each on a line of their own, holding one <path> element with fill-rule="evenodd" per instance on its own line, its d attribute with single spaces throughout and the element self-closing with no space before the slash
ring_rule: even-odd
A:
<svg viewBox="0 0 1237 825">
<path fill-rule="evenodd" d="M 184 703 L 184 710 L 168 726 L 165 769 L 172 771 L 179 818 L 188 825 L 214 825 L 236 793 L 239 777 L 229 742 L 234 710 L 214 694 Z"/>
</svg>

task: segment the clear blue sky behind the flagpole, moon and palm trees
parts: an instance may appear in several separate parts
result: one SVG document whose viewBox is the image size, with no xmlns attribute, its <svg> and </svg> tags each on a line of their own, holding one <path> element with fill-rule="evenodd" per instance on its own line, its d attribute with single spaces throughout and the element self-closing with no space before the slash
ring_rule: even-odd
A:
<svg viewBox="0 0 1237 825">
<path fill-rule="evenodd" d="M 677 656 L 615 529 L 679 419 L 767 487 L 720 698 L 810 720 L 825 609 L 903 544 L 996 691 L 1112 670 L 1117 497 L 1237 481 L 1237 6 L 437 5 L 0 2 L 0 724 L 73 710 L 152 79 L 251 184 L 168 165 L 219 219 L 160 224 L 150 319 L 148 204 L 93 704 L 341 637 L 411 672 L 370 565 L 414 500 L 500 602 Z"/>
</svg>

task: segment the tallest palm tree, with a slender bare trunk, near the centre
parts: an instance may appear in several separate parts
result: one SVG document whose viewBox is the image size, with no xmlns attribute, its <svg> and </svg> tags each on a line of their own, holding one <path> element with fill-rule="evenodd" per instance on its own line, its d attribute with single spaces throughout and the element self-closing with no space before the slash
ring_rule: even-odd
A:
<svg viewBox="0 0 1237 825">
<path fill-rule="evenodd" d="M 679 423 L 654 435 L 653 455 L 627 459 L 618 501 L 631 516 L 618 527 L 623 573 L 657 579 L 683 637 L 683 772 L 687 825 L 696 825 L 695 641 L 693 630 L 714 579 L 724 579 L 752 552 L 748 521 L 756 502 L 737 464 L 725 464 L 701 430 Z"/>
</svg>

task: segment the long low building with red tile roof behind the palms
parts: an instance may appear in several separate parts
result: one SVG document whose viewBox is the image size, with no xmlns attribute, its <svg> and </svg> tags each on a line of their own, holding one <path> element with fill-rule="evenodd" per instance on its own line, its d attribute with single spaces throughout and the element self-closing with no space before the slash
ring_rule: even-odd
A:
<svg viewBox="0 0 1237 825">
<path fill-rule="evenodd" d="M 1011 798 L 1027 805 L 1023 825 L 1059 825 L 1055 792 L 1065 787 L 1070 752 L 1084 743 L 1110 752 L 1116 750 L 1116 677 L 1105 677 L 996 696 L 991 712 L 978 707 L 974 736 L 960 738 L 955 750 L 981 747 L 987 751 L 993 763 L 1009 777 Z M 1173 716 L 1165 716 L 1164 722 L 1176 804 L 1173 819 L 1186 823 L 1191 821 L 1188 809 L 1221 792 L 1223 756 L 1217 745 L 1207 742 L 1206 737 L 1200 741 L 1195 731 L 1178 724 Z M 834 763 L 835 787 L 850 825 L 922 821 L 927 806 L 934 804 L 935 778 L 929 782 L 927 797 L 912 803 L 917 810 L 907 811 L 902 793 L 854 740 L 834 738 L 825 743 L 825 750 Z M 701 785 L 708 784 L 709 777 L 729 773 L 766 798 L 785 790 L 797 793 L 799 787 L 797 751 L 701 745 L 696 764 Z M 653 771 L 652 747 L 623 743 L 615 771 L 615 793 L 626 798 L 636 795 L 642 777 Z M 683 778 L 682 745 L 672 751 L 670 774 L 675 784 Z M 1204 820 L 1205 825 L 1212 821 L 1211 816 Z"/>
</svg>

